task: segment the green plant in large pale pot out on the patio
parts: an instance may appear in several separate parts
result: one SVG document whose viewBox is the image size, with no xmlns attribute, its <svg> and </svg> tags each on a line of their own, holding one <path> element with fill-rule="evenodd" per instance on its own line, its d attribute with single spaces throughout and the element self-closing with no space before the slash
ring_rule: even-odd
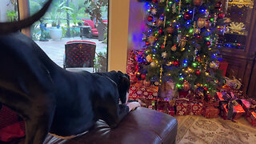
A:
<svg viewBox="0 0 256 144">
<path fill-rule="evenodd" d="M 59 40 L 62 38 L 61 17 L 65 11 L 72 10 L 70 7 L 64 6 L 64 2 L 55 2 L 54 6 L 51 7 L 50 18 L 52 20 L 50 27 L 50 38 L 53 40 Z"/>
</svg>

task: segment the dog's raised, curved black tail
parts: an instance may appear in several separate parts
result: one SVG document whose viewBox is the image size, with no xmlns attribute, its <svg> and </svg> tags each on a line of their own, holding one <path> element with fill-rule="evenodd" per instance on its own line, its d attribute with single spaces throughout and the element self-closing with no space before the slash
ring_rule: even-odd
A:
<svg viewBox="0 0 256 144">
<path fill-rule="evenodd" d="M 36 14 L 32 15 L 29 18 L 17 22 L 0 22 L 0 34 L 9 34 L 31 26 L 34 22 L 38 21 L 46 13 L 46 10 L 49 8 L 52 0 L 46 2 L 46 4 L 39 10 Z"/>
</svg>

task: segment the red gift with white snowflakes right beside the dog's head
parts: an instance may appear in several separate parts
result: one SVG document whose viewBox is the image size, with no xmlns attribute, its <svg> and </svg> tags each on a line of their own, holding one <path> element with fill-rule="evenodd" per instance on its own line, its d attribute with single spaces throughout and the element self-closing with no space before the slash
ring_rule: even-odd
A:
<svg viewBox="0 0 256 144">
<path fill-rule="evenodd" d="M 137 82 L 130 86 L 129 98 L 146 98 L 157 100 L 158 86 L 144 86 L 141 82 Z"/>
</svg>

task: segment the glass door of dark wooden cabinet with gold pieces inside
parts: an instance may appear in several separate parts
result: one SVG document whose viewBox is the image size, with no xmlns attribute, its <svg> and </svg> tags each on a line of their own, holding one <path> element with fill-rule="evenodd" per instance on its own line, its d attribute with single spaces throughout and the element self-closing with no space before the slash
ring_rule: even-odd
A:
<svg viewBox="0 0 256 144">
<path fill-rule="evenodd" d="M 250 17 L 254 0 L 230 0 L 226 2 L 226 17 L 231 23 L 224 28 L 226 34 L 220 37 L 222 46 L 246 49 L 246 38 L 250 29 Z"/>
</svg>

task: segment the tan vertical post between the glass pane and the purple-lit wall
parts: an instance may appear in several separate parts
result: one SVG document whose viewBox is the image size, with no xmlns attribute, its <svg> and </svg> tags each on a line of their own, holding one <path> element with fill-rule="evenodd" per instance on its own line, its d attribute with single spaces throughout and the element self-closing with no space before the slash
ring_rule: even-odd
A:
<svg viewBox="0 0 256 144">
<path fill-rule="evenodd" d="M 126 72 L 129 0 L 110 0 L 108 70 Z"/>
</svg>

